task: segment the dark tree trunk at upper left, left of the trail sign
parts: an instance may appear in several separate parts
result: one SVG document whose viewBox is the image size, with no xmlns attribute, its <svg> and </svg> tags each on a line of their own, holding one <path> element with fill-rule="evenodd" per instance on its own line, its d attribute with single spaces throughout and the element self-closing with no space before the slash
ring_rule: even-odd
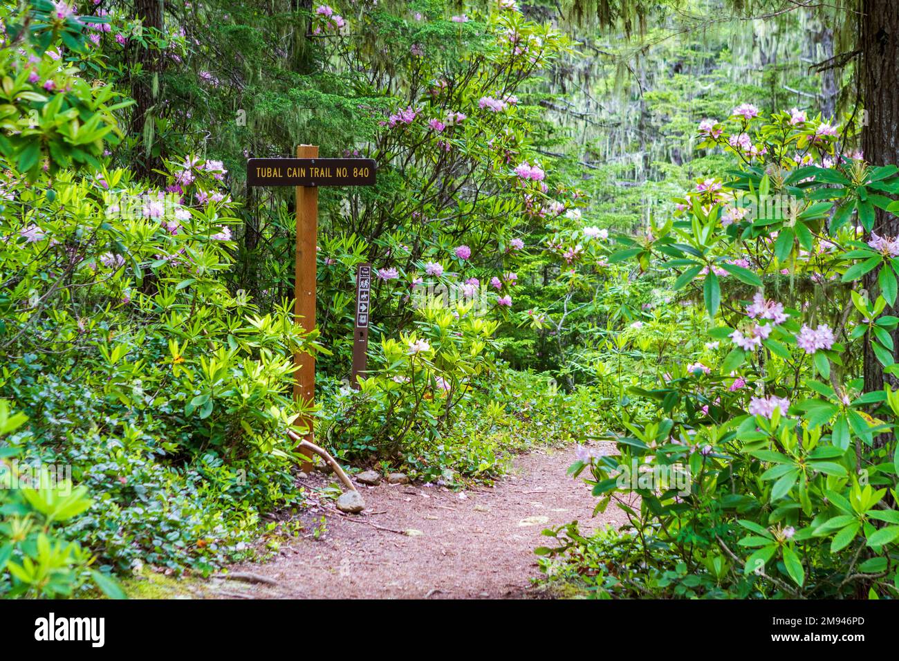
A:
<svg viewBox="0 0 899 661">
<path fill-rule="evenodd" d="M 163 30 L 163 0 L 134 0 L 134 17 L 141 20 L 144 28 Z M 162 155 L 151 153 L 154 133 L 147 122 L 153 121 L 158 92 L 159 75 L 162 72 L 162 58 L 156 49 L 138 46 L 139 76 L 132 78 L 131 96 L 136 102 L 131 115 L 130 131 L 138 138 L 134 170 L 140 178 L 154 178 L 154 169 L 162 168 Z"/>
</svg>

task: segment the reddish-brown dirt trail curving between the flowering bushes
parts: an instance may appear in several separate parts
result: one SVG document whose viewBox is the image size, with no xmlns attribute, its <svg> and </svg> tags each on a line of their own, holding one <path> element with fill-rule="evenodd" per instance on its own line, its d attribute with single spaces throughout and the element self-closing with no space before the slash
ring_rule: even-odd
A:
<svg viewBox="0 0 899 661">
<path fill-rule="evenodd" d="M 207 596 L 244 598 L 520 598 L 539 576 L 533 549 L 544 528 L 574 519 L 584 529 L 623 523 L 610 507 L 591 518 L 589 487 L 566 475 L 574 447 L 521 455 L 494 487 L 453 492 L 442 487 L 364 487 L 366 510 L 343 515 L 330 501 L 314 508 L 327 517 L 320 539 L 290 540 L 264 564 L 233 567 L 265 583 L 223 581 Z M 315 475 L 310 486 L 324 486 Z M 271 583 L 269 583 L 271 581 Z"/>
</svg>

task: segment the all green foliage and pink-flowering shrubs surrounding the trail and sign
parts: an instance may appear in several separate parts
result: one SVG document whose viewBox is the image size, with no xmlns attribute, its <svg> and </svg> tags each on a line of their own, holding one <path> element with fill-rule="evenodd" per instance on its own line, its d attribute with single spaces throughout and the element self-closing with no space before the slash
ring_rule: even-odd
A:
<svg viewBox="0 0 899 661">
<path fill-rule="evenodd" d="M 0 595 L 258 558 L 311 420 L 447 487 L 579 443 L 628 524 L 545 532 L 578 594 L 899 596 L 876 4 L 4 4 Z M 294 190 L 245 176 L 299 144 L 378 165 L 319 191 L 315 328 Z"/>
</svg>

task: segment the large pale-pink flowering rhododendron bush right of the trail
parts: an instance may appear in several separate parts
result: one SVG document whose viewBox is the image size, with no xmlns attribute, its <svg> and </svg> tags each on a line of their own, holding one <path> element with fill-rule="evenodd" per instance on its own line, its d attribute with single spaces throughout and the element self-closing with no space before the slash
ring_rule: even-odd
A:
<svg viewBox="0 0 899 661">
<path fill-rule="evenodd" d="M 844 130 L 795 109 L 764 118 L 751 103 L 702 121 L 702 146 L 733 155 L 734 169 L 700 180 L 642 237 L 615 237 L 610 262 L 670 272 L 705 317 L 704 346 L 673 356 L 680 364 L 663 358 L 654 385 L 628 390 L 652 406 L 621 409 L 619 456 L 573 467 L 591 476 L 598 510 L 615 501 L 628 514 L 617 552 L 645 563 L 629 589 L 899 590 L 899 253 L 872 231 L 876 208 L 899 211 L 899 168 L 841 153 Z M 883 389 L 864 387 L 866 345 Z M 690 481 L 636 485 L 622 470 L 632 461 Z M 561 545 L 541 552 L 583 559 L 576 525 L 551 534 Z M 602 570 L 596 581 L 611 594 L 628 585 Z"/>
</svg>

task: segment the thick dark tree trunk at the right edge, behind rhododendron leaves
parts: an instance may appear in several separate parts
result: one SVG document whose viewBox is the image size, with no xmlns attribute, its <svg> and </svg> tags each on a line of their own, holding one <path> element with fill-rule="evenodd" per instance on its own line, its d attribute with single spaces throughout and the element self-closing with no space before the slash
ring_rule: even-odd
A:
<svg viewBox="0 0 899 661">
<path fill-rule="evenodd" d="M 872 165 L 899 164 L 899 2 L 862 0 L 859 24 L 859 84 L 868 120 L 862 130 L 861 148 Z M 899 219 L 877 209 L 874 231 L 895 237 L 899 235 Z M 877 273 L 868 273 L 864 283 L 875 299 Z M 895 310 L 887 314 L 895 314 Z M 899 346 L 899 333 L 894 342 Z M 865 391 L 883 389 L 883 367 L 867 337 L 864 362 Z M 891 381 L 895 384 L 895 379 Z"/>
</svg>

